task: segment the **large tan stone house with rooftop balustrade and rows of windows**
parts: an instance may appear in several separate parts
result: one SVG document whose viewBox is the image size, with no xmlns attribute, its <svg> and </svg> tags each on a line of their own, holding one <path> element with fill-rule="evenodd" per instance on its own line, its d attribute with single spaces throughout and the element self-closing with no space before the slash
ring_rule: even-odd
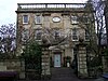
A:
<svg viewBox="0 0 108 81">
<path fill-rule="evenodd" d="M 86 3 L 17 5 L 17 56 L 23 53 L 27 40 L 36 39 L 42 44 L 42 39 L 46 39 L 51 44 L 46 54 L 49 66 L 70 67 L 77 54 L 76 44 L 79 44 L 79 39 L 89 43 L 89 30 L 91 33 L 95 32 L 94 23 L 91 23 L 93 12 L 86 10 Z"/>
</svg>

